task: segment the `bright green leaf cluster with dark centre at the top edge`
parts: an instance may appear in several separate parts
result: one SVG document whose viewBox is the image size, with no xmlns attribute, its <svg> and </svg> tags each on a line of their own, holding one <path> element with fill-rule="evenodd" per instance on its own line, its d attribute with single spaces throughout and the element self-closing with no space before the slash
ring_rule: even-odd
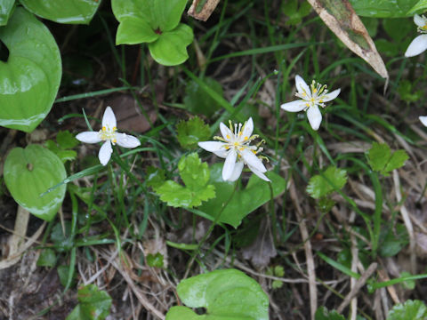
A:
<svg viewBox="0 0 427 320">
<path fill-rule="evenodd" d="M 149 43 L 154 60 L 165 66 L 181 64 L 189 58 L 187 46 L 193 30 L 179 23 L 187 0 L 112 0 L 117 28 L 116 44 Z"/>
</svg>

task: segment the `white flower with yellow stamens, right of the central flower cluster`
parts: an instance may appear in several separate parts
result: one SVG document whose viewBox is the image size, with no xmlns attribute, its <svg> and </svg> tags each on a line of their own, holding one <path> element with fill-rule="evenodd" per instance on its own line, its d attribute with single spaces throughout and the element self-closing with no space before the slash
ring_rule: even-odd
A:
<svg viewBox="0 0 427 320">
<path fill-rule="evenodd" d="M 318 106 L 325 108 L 325 102 L 334 100 L 338 94 L 340 94 L 341 89 L 328 93 L 326 84 L 317 84 L 314 80 L 309 87 L 304 79 L 298 75 L 295 76 L 295 85 L 298 91 L 295 95 L 301 98 L 301 100 L 284 103 L 280 108 L 289 112 L 307 111 L 307 117 L 309 118 L 311 128 L 313 128 L 313 130 L 318 130 L 322 122 L 322 114 Z"/>
</svg>

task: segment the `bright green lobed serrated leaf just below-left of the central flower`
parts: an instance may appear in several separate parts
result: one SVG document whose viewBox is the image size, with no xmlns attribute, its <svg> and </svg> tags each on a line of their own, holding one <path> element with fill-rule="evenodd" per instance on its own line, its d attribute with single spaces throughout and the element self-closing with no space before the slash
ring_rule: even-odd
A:
<svg viewBox="0 0 427 320">
<path fill-rule="evenodd" d="M 191 208 L 215 196 L 214 185 L 208 184 L 209 168 L 200 161 L 197 153 L 182 156 L 178 170 L 185 187 L 173 180 L 165 181 L 155 190 L 160 200 L 173 207 Z"/>
</svg>

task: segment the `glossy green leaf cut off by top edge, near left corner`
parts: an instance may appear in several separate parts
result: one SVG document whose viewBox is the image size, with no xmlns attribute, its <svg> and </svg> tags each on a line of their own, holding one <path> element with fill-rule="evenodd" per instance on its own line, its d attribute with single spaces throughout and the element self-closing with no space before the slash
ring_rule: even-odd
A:
<svg viewBox="0 0 427 320">
<path fill-rule="evenodd" d="M 101 0 L 20 0 L 29 12 L 59 23 L 88 24 Z"/>
</svg>

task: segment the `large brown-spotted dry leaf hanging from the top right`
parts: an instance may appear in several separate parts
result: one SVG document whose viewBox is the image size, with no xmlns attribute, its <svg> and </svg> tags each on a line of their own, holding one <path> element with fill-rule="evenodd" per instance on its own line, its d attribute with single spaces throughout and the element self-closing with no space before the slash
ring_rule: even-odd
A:
<svg viewBox="0 0 427 320">
<path fill-rule="evenodd" d="M 374 41 L 367 34 L 359 16 L 348 0 L 308 0 L 326 26 L 334 32 L 347 47 L 367 61 L 376 73 L 389 78 L 383 59 L 377 52 Z"/>
</svg>

